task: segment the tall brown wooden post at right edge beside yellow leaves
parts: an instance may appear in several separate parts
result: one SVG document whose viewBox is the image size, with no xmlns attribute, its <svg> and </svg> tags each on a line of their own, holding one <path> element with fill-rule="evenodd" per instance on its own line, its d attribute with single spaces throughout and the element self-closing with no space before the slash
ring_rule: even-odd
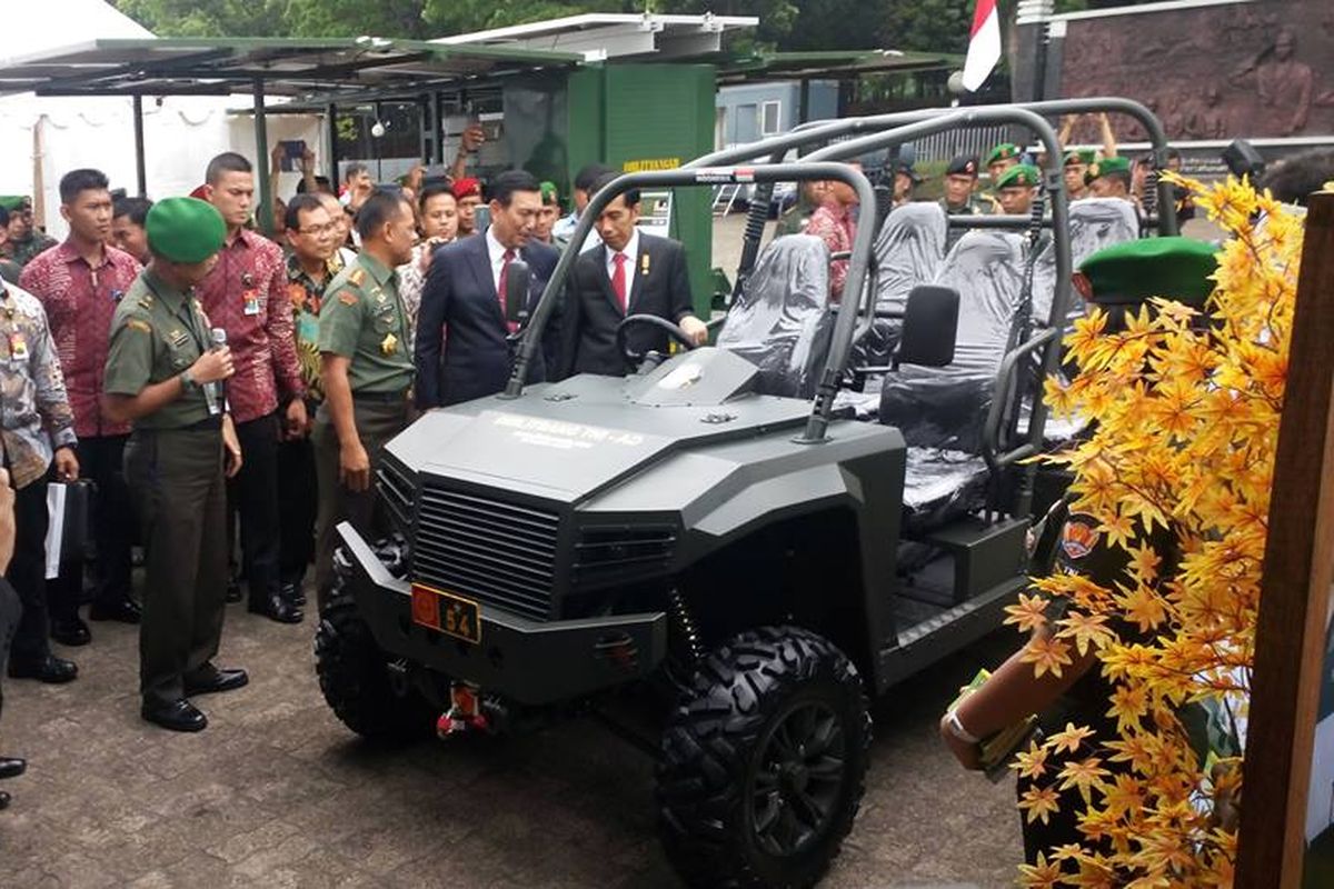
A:
<svg viewBox="0 0 1334 889">
<path fill-rule="evenodd" d="M 1238 889 L 1295 889 L 1334 578 L 1334 193 L 1310 201 L 1278 432 L 1242 789 Z"/>
</svg>

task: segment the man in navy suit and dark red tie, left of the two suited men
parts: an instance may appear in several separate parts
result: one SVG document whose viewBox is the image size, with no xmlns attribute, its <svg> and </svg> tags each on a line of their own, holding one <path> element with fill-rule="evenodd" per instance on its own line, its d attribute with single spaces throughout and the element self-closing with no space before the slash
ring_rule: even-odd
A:
<svg viewBox="0 0 1334 889">
<path fill-rule="evenodd" d="M 532 273 L 528 309 L 536 307 L 559 253 L 532 240 L 542 211 L 538 180 L 512 169 L 491 180 L 491 225 L 436 249 L 422 289 L 416 332 L 418 407 L 436 408 L 494 395 L 510 379 L 514 349 L 504 313 L 507 267 L 515 259 Z M 542 349 L 528 381 L 546 379 Z"/>
</svg>

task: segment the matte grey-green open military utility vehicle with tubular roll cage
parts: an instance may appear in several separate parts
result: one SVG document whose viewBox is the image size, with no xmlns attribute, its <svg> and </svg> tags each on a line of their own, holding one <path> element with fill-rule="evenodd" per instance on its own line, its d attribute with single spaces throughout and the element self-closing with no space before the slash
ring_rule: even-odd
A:
<svg viewBox="0 0 1334 889">
<path fill-rule="evenodd" d="M 1059 145 L 1031 112 L 942 113 L 822 155 L 992 119 L 1046 148 L 1049 244 L 970 231 L 946 255 L 943 212 L 863 211 L 875 224 L 846 257 L 803 235 L 756 251 L 718 345 L 630 315 L 618 336 L 636 372 L 535 385 L 575 252 L 534 305 L 511 271 L 523 328 L 506 392 L 431 411 L 388 445 L 392 537 L 339 528 L 316 636 L 334 712 L 367 737 L 482 733 L 643 689 L 662 701 L 656 805 L 682 877 L 818 881 L 862 798 L 868 697 L 998 626 L 1025 586 L 1023 458 L 1045 443 L 1039 381 L 1058 365 L 1071 261 Z M 622 176 L 572 243 L 631 188 L 840 180 L 876 205 L 863 175 L 812 157 Z M 648 329 L 680 348 L 644 353 Z M 876 329 L 883 364 L 856 364 Z"/>
</svg>

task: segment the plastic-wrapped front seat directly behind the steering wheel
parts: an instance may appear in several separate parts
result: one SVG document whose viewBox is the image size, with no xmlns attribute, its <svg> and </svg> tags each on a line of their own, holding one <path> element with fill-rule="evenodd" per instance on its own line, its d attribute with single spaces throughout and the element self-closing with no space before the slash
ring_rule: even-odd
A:
<svg viewBox="0 0 1334 889">
<path fill-rule="evenodd" d="M 762 395 L 802 396 L 828 348 L 828 295 L 824 241 L 810 235 L 776 237 L 755 261 L 718 345 L 759 368 Z"/>
</svg>

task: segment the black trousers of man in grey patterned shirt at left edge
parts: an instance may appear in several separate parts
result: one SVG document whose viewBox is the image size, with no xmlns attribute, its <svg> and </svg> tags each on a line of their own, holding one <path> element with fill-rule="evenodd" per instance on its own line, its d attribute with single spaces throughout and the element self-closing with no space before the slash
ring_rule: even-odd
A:
<svg viewBox="0 0 1334 889">
<path fill-rule="evenodd" d="M 51 653 L 51 616 L 47 613 L 47 485 L 51 469 L 15 492 L 13 560 L 5 578 L 19 593 L 23 617 L 13 637 L 13 657 L 25 664 Z"/>
</svg>

